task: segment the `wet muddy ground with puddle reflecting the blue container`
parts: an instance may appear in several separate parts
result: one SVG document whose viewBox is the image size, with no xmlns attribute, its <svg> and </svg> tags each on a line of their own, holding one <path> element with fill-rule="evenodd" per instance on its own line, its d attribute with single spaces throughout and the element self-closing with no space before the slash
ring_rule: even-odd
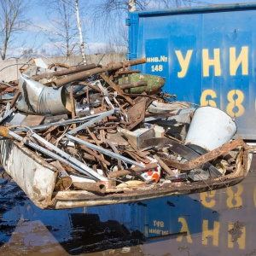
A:
<svg viewBox="0 0 256 256">
<path fill-rule="evenodd" d="M 0 170 L 0 255 L 256 255 L 256 160 L 242 183 L 105 207 L 41 210 Z"/>
</svg>

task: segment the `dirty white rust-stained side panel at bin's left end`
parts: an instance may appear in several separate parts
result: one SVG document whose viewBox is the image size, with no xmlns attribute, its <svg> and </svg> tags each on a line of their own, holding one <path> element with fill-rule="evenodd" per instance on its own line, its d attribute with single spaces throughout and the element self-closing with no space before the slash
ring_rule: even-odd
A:
<svg viewBox="0 0 256 256">
<path fill-rule="evenodd" d="M 57 169 L 26 147 L 12 140 L 0 141 L 0 161 L 30 200 L 40 208 L 48 207 L 54 190 Z"/>
</svg>

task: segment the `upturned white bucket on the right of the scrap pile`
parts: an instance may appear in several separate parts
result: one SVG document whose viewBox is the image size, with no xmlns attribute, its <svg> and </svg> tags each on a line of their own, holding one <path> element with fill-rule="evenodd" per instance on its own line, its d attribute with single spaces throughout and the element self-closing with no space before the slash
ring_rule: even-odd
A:
<svg viewBox="0 0 256 256">
<path fill-rule="evenodd" d="M 218 148 L 236 134 L 236 123 L 224 111 L 213 107 L 197 108 L 184 144 L 199 154 Z"/>
</svg>

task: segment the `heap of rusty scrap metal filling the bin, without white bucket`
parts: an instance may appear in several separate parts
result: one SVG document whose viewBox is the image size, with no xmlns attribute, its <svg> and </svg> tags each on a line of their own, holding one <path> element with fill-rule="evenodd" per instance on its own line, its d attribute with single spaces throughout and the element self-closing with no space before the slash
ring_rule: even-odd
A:
<svg viewBox="0 0 256 256">
<path fill-rule="evenodd" d="M 236 172 L 238 151 L 230 151 L 243 142 L 228 143 L 234 131 L 213 150 L 189 147 L 195 105 L 162 91 L 164 78 L 131 69 L 143 63 L 47 67 L 33 59 L 20 68 L 19 80 L 0 84 L 1 135 L 58 169 L 55 191 L 104 194 L 152 183 L 207 183 Z"/>
</svg>

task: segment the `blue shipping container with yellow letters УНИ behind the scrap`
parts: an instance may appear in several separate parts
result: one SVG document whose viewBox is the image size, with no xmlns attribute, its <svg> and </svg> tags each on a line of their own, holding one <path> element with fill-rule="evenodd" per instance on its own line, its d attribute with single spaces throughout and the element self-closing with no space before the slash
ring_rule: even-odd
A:
<svg viewBox="0 0 256 256">
<path fill-rule="evenodd" d="M 256 139 L 256 3 L 129 14 L 128 59 L 166 77 L 177 100 L 221 108 Z"/>
</svg>

